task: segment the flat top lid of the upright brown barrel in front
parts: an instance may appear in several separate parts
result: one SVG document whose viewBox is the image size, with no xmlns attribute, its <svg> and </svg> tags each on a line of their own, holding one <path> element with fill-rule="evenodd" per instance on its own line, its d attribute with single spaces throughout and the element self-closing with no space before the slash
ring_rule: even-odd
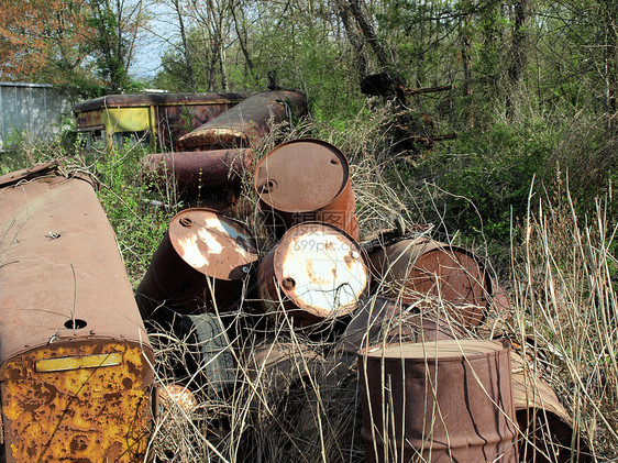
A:
<svg viewBox="0 0 618 463">
<path fill-rule="evenodd" d="M 506 351 L 501 343 L 486 340 L 441 340 L 435 342 L 396 343 L 387 346 L 376 345 L 363 349 L 358 355 L 367 359 L 406 359 L 406 360 L 440 360 L 461 361 L 483 357 L 499 351 Z"/>
</svg>

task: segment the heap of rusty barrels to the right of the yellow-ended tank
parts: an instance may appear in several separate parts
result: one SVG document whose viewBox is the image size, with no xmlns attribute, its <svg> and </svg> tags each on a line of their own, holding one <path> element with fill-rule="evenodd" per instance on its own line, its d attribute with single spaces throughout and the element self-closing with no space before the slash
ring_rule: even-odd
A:
<svg viewBox="0 0 618 463">
<path fill-rule="evenodd" d="M 143 318 L 197 333 L 210 390 L 230 368 L 289 373 L 299 349 L 321 356 L 317 341 L 357 357 L 366 461 L 569 460 L 569 414 L 506 335 L 509 300 L 483 260 L 422 227 L 361 239 L 350 168 L 330 143 L 289 141 L 249 173 L 256 211 L 180 211 L 136 290 Z M 273 341 L 285 333 L 300 348 Z"/>
</svg>

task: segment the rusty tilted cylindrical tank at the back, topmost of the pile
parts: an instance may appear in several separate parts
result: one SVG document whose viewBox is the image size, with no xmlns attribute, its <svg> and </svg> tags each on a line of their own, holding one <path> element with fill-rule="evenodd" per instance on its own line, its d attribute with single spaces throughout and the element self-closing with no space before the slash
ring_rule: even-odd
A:
<svg viewBox="0 0 618 463">
<path fill-rule="evenodd" d="M 254 95 L 183 135 L 184 151 L 255 146 L 278 124 L 307 113 L 307 97 L 297 90 Z M 291 121 L 290 121 L 291 122 Z"/>
</svg>

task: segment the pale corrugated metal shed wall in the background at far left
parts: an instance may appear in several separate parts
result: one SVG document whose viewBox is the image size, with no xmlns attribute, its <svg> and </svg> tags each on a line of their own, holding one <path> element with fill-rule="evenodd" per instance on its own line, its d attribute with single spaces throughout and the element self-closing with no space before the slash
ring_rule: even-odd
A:
<svg viewBox="0 0 618 463">
<path fill-rule="evenodd" d="M 15 132 L 27 140 L 49 139 L 68 101 L 51 84 L 0 81 L 0 152 L 10 148 Z"/>
</svg>

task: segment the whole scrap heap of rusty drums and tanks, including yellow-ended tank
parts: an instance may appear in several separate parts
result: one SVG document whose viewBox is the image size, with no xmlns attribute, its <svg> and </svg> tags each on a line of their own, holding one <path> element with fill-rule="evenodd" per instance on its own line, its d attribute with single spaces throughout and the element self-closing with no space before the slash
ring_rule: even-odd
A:
<svg viewBox="0 0 618 463">
<path fill-rule="evenodd" d="M 57 163 L 0 178 L 7 461 L 143 461 L 146 329 L 191 346 L 164 409 L 179 394 L 194 407 L 191 390 L 224 399 L 243 374 L 268 372 L 289 389 L 277 373 L 299 352 L 311 362 L 328 351 L 355 368 L 367 462 L 569 460 L 570 416 L 509 340 L 509 300 L 483 260 L 422 227 L 361 238 L 351 166 L 325 141 L 253 158 L 273 120 L 306 111 L 301 93 L 276 93 L 183 136 L 196 151 L 146 159 L 187 190 L 228 194 L 233 181 L 234 195 L 170 220 L 135 299 L 88 178 Z M 257 207 L 225 214 L 239 195 Z"/>
</svg>

